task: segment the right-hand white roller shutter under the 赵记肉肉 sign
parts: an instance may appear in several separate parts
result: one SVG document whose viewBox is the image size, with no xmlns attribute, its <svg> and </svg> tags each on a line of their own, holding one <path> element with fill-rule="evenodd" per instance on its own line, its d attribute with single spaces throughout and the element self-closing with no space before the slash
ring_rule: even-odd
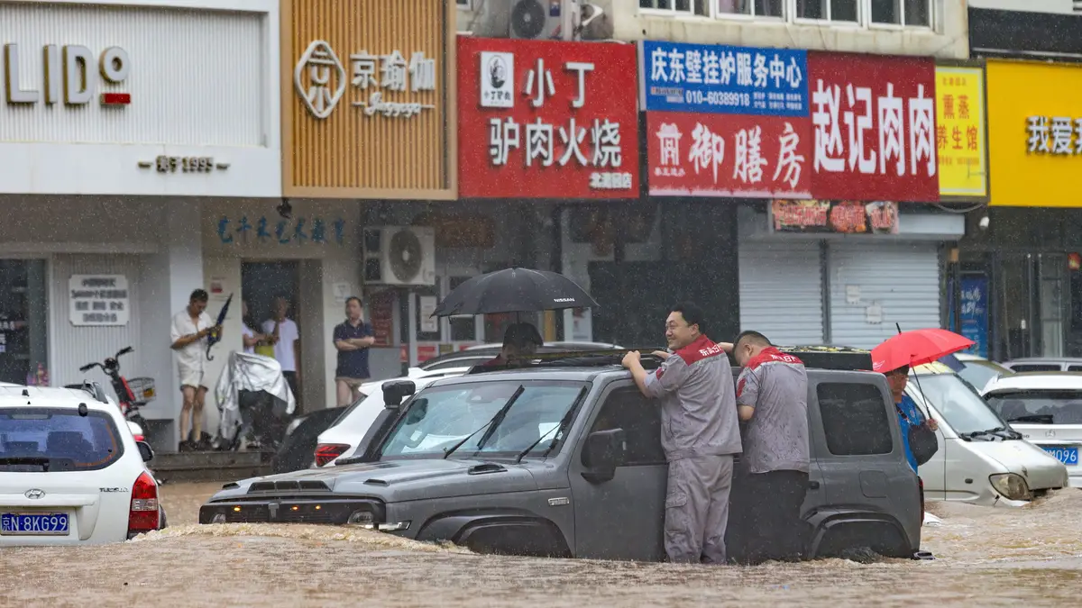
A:
<svg viewBox="0 0 1082 608">
<path fill-rule="evenodd" d="M 839 346 L 872 348 L 901 330 L 940 327 L 936 243 L 831 243 L 830 328 Z M 859 290 L 850 304 L 846 293 Z M 856 293 L 854 293 L 856 295 Z M 869 319 L 879 304 L 882 320 Z"/>
</svg>

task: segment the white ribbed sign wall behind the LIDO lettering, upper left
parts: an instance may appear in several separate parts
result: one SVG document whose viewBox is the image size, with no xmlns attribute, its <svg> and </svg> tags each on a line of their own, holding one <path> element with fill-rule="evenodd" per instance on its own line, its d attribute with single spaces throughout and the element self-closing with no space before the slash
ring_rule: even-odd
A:
<svg viewBox="0 0 1082 608">
<path fill-rule="evenodd" d="M 0 2 L 0 40 L 17 44 L 19 90 L 37 100 L 0 102 L 0 191 L 280 196 L 278 2 L 144 4 Z M 89 49 L 89 103 L 45 103 L 49 44 Z M 114 47 L 129 57 L 119 83 L 98 74 Z M 100 93 L 131 102 L 105 106 Z M 161 173 L 159 155 L 210 157 L 215 169 Z"/>
</svg>

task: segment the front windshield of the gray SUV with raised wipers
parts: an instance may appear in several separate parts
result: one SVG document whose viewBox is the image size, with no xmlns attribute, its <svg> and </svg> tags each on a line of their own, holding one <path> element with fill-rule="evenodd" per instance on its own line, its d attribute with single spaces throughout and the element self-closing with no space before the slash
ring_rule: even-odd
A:
<svg viewBox="0 0 1082 608">
<path fill-rule="evenodd" d="M 483 454 L 517 455 L 543 435 L 553 432 L 575 406 L 582 382 L 477 382 L 428 388 L 418 393 L 406 415 L 395 423 L 381 450 L 382 458 L 443 458 L 447 450 L 474 433 L 452 455 L 467 458 Z M 506 405 L 519 387 L 522 394 L 497 421 L 490 435 L 486 425 Z M 490 426 L 490 425 L 489 425 Z M 479 433 L 475 433 L 478 429 Z"/>
</svg>

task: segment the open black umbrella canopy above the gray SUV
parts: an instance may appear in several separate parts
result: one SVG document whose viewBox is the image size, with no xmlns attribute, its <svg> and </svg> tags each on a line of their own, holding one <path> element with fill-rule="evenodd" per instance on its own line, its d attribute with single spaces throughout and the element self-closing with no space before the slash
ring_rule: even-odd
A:
<svg viewBox="0 0 1082 608">
<path fill-rule="evenodd" d="M 592 306 L 596 307 L 597 302 L 564 275 L 505 268 L 460 285 L 436 306 L 432 316 L 538 313 Z"/>
</svg>

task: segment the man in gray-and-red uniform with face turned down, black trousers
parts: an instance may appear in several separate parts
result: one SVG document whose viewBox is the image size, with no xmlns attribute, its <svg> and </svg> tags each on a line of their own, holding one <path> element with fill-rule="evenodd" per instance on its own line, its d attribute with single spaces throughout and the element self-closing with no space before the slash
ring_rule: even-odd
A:
<svg viewBox="0 0 1082 608">
<path fill-rule="evenodd" d="M 728 344 L 722 344 L 726 349 Z M 731 346 L 740 420 L 748 423 L 742 463 L 747 558 L 794 560 L 801 554 L 801 505 L 808 486 L 808 378 L 804 362 L 757 331 Z M 741 488 L 743 490 L 743 488 Z M 742 494 L 742 495 L 741 495 Z M 739 506 L 739 505 L 737 505 Z"/>
</svg>

